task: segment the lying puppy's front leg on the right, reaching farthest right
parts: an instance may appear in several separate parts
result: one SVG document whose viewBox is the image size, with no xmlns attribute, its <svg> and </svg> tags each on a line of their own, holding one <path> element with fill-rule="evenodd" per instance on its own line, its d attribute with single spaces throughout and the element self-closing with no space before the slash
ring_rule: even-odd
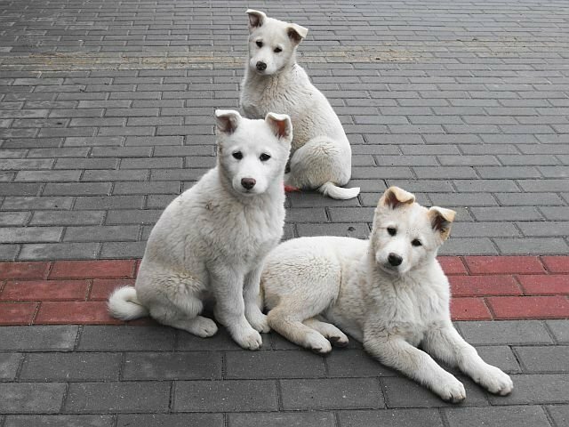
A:
<svg viewBox="0 0 569 427">
<path fill-rule="evenodd" d="M 464 341 L 450 322 L 430 328 L 423 341 L 423 348 L 436 358 L 458 366 L 491 393 L 505 396 L 514 388 L 509 375 L 480 358 L 477 350 Z"/>
</svg>

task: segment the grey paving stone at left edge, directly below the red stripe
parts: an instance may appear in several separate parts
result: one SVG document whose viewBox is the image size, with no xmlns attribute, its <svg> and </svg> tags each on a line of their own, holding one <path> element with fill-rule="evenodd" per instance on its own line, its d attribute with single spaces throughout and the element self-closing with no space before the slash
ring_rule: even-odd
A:
<svg viewBox="0 0 569 427">
<path fill-rule="evenodd" d="M 69 351 L 75 347 L 77 326 L 3 326 L 0 350 Z"/>
</svg>

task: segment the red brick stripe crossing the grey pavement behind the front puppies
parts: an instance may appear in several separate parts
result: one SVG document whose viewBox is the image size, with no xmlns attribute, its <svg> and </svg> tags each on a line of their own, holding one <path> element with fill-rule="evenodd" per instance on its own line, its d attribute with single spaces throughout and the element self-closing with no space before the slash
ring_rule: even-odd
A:
<svg viewBox="0 0 569 427">
<path fill-rule="evenodd" d="M 569 318 L 569 255 L 441 256 L 455 320 Z M 121 325 L 108 294 L 139 260 L 0 262 L 0 325 Z M 129 322 L 147 325 L 140 319 Z"/>
</svg>

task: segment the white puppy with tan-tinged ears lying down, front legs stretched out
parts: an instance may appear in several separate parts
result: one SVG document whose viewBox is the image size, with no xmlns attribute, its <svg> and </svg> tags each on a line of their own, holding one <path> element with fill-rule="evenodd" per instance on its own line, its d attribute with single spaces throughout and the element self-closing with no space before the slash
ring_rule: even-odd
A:
<svg viewBox="0 0 569 427">
<path fill-rule="evenodd" d="M 436 257 L 454 214 L 427 209 L 413 194 L 391 187 L 377 205 L 369 240 L 282 243 L 268 254 L 261 275 L 268 325 L 318 353 L 331 351 L 330 342 L 348 344 L 342 329 L 381 363 L 447 401 L 465 399 L 464 386 L 429 354 L 488 391 L 508 394 L 509 375 L 486 364 L 451 322 L 449 283 Z"/>
</svg>

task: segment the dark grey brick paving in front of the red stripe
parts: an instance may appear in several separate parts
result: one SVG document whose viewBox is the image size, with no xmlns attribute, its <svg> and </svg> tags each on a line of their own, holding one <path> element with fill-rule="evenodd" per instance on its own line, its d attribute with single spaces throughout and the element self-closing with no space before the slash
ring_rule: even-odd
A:
<svg viewBox="0 0 569 427">
<path fill-rule="evenodd" d="M 564 425 L 569 352 L 549 321 L 457 327 L 512 375 L 510 397 L 490 396 L 461 376 L 467 400 L 445 404 L 357 342 L 323 358 L 273 333 L 251 352 L 224 330 L 200 339 L 162 326 L 4 326 L 0 413 L 4 426 Z M 496 343 L 504 333 L 511 340 Z"/>
</svg>

